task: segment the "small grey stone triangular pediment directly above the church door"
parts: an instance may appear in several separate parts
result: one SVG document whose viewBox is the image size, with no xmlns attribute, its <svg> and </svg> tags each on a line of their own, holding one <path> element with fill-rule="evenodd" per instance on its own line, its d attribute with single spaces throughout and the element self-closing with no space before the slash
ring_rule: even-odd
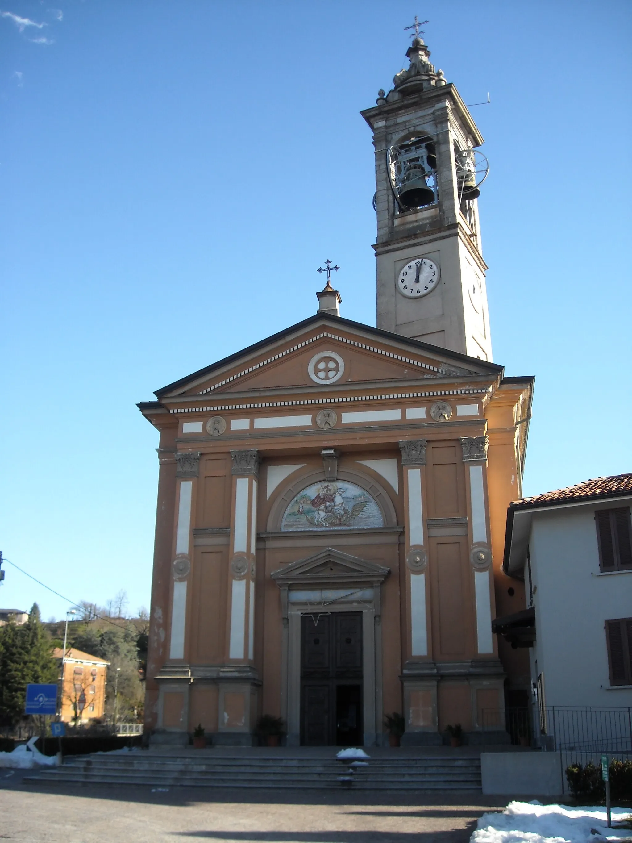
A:
<svg viewBox="0 0 632 843">
<path fill-rule="evenodd" d="M 313 556 L 298 559 L 279 568 L 271 577 L 279 586 L 314 583 L 378 584 L 382 583 L 389 573 L 388 567 L 327 547 Z"/>
</svg>

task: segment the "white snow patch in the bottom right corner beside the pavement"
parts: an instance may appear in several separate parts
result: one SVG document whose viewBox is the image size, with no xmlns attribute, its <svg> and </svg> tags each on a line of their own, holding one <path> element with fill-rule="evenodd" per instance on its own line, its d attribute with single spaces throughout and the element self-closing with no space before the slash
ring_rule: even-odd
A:
<svg viewBox="0 0 632 843">
<path fill-rule="evenodd" d="M 613 808 L 612 821 L 629 816 L 629 808 Z M 510 802 L 502 813 L 484 813 L 470 843 L 595 843 L 629 836 L 629 829 L 608 829 L 606 809 L 568 808 L 537 801 Z"/>
</svg>

